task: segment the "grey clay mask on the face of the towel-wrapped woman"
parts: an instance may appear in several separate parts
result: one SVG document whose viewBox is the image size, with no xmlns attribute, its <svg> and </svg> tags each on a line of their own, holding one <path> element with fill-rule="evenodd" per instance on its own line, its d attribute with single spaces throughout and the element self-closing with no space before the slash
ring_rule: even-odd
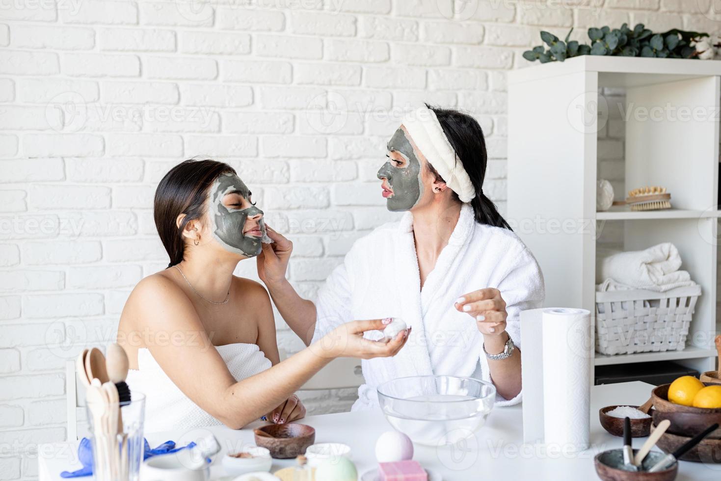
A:
<svg viewBox="0 0 721 481">
<path fill-rule="evenodd" d="M 240 177 L 233 174 L 221 174 L 211 187 L 208 199 L 208 208 L 211 221 L 213 221 L 213 237 L 230 252 L 246 257 L 255 257 L 260 254 L 261 242 L 273 242 L 270 237 L 267 237 L 262 217 L 257 221 L 262 235 L 246 235 L 243 231 L 247 219 L 259 214 L 262 216 L 263 211 L 255 206 L 248 208 L 226 206 L 223 198 L 231 193 L 241 195 L 246 200 L 250 198 L 250 190 L 240 180 Z"/>
</svg>

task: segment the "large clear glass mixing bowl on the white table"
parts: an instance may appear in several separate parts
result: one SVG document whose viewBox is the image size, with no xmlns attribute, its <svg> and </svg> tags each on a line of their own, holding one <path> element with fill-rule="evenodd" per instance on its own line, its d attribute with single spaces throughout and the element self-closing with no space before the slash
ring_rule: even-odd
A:
<svg viewBox="0 0 721 481">
<path fill-rule="evenodd" d="M 414 443 L 456 444 L 485 424 L 496 389 L 480 379 L 410 376 L 378 387 L 378 400 L 391 425 Z"/>
</svg>

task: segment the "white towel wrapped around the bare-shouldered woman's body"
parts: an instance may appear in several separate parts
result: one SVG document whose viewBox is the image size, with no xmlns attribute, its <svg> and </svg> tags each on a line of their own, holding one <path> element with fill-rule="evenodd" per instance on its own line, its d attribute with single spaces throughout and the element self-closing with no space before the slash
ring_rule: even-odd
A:
<svg viewBox="0 0 721 481">
<path fill-rule="evenodd" d="M 270 369 L 271 363 L 255 344 L 235 343 L 216 346 L 228 370 L 240 381 Z M 131 392 L 142 392 L 145 400 L 146 433 L 159 431 L 187 431 L 211 425 L 222 425 L 190 400 L 168 377 L 150 350 L 138 349 L 138 367 L 128 371 L 128 387 Z M 203 382 L 203 376 L 189 374 Z"/>
</svg>

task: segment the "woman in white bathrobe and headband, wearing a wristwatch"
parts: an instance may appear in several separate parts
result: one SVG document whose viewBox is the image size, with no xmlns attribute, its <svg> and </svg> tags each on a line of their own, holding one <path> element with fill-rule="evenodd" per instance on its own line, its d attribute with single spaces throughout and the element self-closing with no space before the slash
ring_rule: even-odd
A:
<svg viewBox="0 0 721 481">
<path fill-rule="evenodd" d="M 388 151 L 378 177 L 389 210 L 406 211 L 399 222 L 358 239 L 315 304 L 286 280 L 292 244 L 270 228 L 275 244 L 263 245 L 260 278 L 305 343 L 349 319 L 400 317 L 410 326 L 396 356 L 363 361 L 366 384 L 353 410 L 376 407 L 384 381 L 430 374 L 492 381 L 498 404 L 520 401 L 519 314 L 541 306 L 544 283 L 482 192 L 480 126 L 455 110 L 421 107 L 404 118 Z"/>
</svg>

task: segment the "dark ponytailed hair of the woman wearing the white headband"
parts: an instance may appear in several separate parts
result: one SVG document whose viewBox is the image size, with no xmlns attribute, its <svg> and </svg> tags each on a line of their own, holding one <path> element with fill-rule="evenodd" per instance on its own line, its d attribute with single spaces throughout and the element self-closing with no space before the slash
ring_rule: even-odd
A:
<svg viewBox="0 0 721 481">
<path fill-rule="evenodd" d="M 456 162 L 459 160 L 463 165 L 468 177 L 471 179 L 476 196 L 471 200 L 474 218 L 479 224 L 488 224 L 495 227 L 510 229 L 508 222 L 498 213 L 495 204 L 483 193 L 483 179 L 486 176 L 486 164 L 488 156 L 486 153 L 486 141 L 483 131 L 476 119 L 470 115 L 453 109 L 441 107 L 426 107 L 435 112 L 435 117 L 441 123 L 443 133 L 446 134 L 448 142 L 456 151 Z M 435 175 L 436 180 L 443 181 L 433 166 L 428 164 L 430 172 Z M 456 198 L 458 194 L 454 193 Z"/>
</svg>

